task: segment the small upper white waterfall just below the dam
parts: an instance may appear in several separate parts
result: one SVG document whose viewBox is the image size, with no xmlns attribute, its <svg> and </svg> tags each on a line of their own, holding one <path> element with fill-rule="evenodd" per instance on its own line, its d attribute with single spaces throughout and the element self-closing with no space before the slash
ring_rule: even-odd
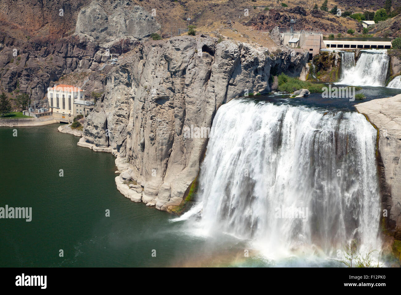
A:
<svg viewBox="0 0 401 295">
<path fill-rule="evenodd" d="M 346 63 L 343 60 L 343 63 Z M 387 50 L 369 49 L 360 51 L 360 57 L 354 66 L 344 65 L 346 69 L 339 84 L 384 86 L 389 67 Z"/>
</svg>

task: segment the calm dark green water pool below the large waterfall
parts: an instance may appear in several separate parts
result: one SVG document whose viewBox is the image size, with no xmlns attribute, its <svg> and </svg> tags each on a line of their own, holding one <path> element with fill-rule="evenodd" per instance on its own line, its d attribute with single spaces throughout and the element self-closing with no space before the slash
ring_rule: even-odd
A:
<svg viewBox="0 0 401 295">
<path fill-rule="evenodd" d="M 0 267 L 269 265 L 244 261 L 234 238 L 188 234 L 175 216 L 130 201 L 115 187 L 115 158 L 58 126 L 0 128 L 0 207 L 32 207 L 31 222 L 0 219 Z"/>
</svg>

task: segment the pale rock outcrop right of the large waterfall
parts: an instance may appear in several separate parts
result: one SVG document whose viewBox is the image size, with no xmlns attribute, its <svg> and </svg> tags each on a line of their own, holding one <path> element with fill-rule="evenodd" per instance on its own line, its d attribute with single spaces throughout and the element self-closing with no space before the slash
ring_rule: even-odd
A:
<svg viewBox="0 0 401 295">
<path fill-rule="evenodd" d="M 388 211 L 387 228 L 401 239 L 401 94 L 357 104 L 379 130 L 379 152 L 385 173 L 383 209 Z"/>
</svg>

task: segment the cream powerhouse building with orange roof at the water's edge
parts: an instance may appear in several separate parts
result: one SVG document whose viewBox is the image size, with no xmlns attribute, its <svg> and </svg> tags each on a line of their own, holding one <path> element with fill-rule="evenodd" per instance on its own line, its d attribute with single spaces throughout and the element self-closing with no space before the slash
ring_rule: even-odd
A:
<svg viewBox="0 0 401 295">
<path fill-rule="evenodd" d="M 55 85 L 47 89 L 49 107 L 53 112 L 53 117 L 65 115 L 77 116 L 79 114 L 87 116 L 93 109 L 93 104 L 85 100 L 84 90 L 73 85 Z"/>
</svg>

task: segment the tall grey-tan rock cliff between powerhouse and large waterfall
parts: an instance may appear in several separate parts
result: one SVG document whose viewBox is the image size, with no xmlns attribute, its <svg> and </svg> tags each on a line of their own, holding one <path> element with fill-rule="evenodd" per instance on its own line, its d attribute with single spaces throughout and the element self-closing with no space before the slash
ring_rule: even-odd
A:
<svg viewBox="0 0 401 295">
<path fill-rule="evenodd" d="M 271 67 L 295 75 L 306 59 L 294 51 L 272 59 L 267 49 L 213 38 L 143 43 L 106 77 L 84 137 L 129 161 L 142 201 L 167 210 L 198 174 L 219 106 L 245 90 L 269 92 Z"/>
</svg>

